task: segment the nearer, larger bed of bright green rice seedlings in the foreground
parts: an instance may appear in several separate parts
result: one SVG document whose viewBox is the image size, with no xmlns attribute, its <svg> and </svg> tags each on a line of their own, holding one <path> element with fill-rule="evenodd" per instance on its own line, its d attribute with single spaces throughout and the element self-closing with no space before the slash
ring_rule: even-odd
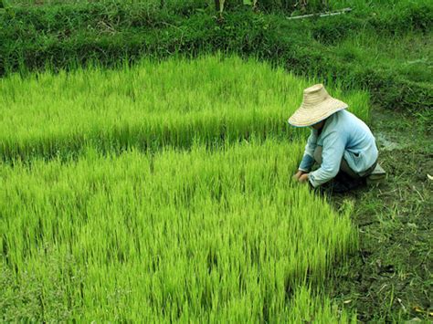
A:
<svg viewBox="0 0 433 324">
<path fill-rule="evenodd" d="M 349 210 L 289 181 L 302 151 L 89 148 L 1 164 L 0 318 L 337 320 L 314 291 L 356 239 Z"/>
</svg>

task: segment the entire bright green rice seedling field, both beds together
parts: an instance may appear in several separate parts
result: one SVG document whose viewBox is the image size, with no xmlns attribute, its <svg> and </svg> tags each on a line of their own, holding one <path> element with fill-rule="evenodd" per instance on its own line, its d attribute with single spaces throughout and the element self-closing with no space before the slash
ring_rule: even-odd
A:
<svg viewBox="0 0 433 324">
<path fill-rule="evenodd" d="M 0 79 L 2 319 L 355 322 L 321 290 L 352 207 L 290 180 L 312 82 L 221 55 Z"/>
</svg>

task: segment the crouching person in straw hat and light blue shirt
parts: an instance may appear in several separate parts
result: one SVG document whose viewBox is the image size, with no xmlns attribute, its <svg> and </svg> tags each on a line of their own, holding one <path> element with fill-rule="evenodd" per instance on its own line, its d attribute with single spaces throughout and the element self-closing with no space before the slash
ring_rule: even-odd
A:
<svg viewBox="0 0 433 324">
<path fill-rule="evenodd" d="M 344 192 L 364 183 L 377 165 L 375 137 L 363 120 L 345 110 L 346 103 L 331 97 L 322 84 L 303 91 L 301 108 L 290 117 L 297 127 L 310 126 L 305 152 L 293 179 L 316 188 L 334 179 L 333 190 Z M 317 162 L 319 168 L 311 172 Z M 336 185 L 336 187 L 335 187 Z"/>
</svg>

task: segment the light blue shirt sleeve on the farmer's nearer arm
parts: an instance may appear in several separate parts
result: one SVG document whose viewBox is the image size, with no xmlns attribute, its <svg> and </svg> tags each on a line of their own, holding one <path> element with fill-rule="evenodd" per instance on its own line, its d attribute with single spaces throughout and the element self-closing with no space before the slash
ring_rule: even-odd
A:
<svg viewBox="0 0 433 324">
<path fill-rule="evenodd" d="M 345 142 L 343 136 L 332 131 L 323 138 L 322 165 L 308 176 L 313 187 L 327 183 L 337 175 L 343 159 Z"/>
</svg>

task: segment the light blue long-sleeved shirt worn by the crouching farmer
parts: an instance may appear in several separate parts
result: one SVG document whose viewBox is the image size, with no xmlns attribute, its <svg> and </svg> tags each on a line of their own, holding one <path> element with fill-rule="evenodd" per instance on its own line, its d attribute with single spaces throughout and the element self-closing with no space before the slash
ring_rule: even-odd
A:
<svg viewBox="0 0 433 324">
<path fill-rule="evenodd" d="M 354 172 L 360 173 L 370 168 L 378 156 L 375 137 L 368 126 L 347 110 L 331 115 L 320 134 L 312 129 L 299 170 L 310 171 L 317 145 L 322 146 L 322 165 L 309 173 L 313 187 L 333 179 L 340 171 L 343 158 Z"/>
</svg>

